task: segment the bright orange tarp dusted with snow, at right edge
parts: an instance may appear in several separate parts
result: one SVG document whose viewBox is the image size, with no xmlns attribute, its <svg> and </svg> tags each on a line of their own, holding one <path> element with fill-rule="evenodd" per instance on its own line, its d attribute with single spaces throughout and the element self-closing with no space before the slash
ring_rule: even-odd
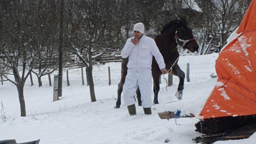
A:
<svg viewBox="0 0 256 144">
<path fill-rule="evenodd" d="M 237 29 L 239 36 L 216 60 L 217 85 L 200 116 L 203 119 L 256 115 L 256 0 Z"/>
</svg>

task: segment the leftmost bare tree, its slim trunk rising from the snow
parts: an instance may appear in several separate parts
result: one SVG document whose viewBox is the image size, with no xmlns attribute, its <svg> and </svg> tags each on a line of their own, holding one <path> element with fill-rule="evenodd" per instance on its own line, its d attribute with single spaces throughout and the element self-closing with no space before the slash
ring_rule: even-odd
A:
<svg viewBox="0 0 256 144">
<path fill-rule="evenodd" d="M 36 62 L 35 56 L 39 49 L 31 47 L 36 33 L 31 31 L 34 19 L 32 16 L 33 1 L 1 1 L 0 26 L 0 53 L 5 61 L 1 60 L 8 71 L 3 76 L 16 85 L 20 100 L 21 116 L 26 116 L 23 88 L 27 77 Z M 32 53 L 32 54 L 31 54 Z M 13 75 L 14 80 L 8 75 Z"/>
</svg>

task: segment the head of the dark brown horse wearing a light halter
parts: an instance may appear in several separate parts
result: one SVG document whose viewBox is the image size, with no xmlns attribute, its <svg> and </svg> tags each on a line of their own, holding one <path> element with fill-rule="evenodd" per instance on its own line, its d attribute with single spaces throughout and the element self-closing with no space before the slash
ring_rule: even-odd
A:
<svg viewBox="0 0 256 144">
<path fill-rule="evenodd" d="M 199 46 L 194 39 L 192 30 L 187 26 L 187 20 L 182 18 L 176 22 L 176 31 L 174 40 L 184 49 L 188 49 L 190 52 L 198 50 Z"/>
</svg>

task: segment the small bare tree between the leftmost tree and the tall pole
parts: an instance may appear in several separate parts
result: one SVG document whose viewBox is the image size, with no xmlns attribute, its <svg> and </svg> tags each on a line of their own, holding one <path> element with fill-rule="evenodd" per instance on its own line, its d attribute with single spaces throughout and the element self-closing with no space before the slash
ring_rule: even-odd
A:
<svg viewBox="0 0 256 144">
<path fill-rule="evenodd" d="M 38 78 L 39 87 L 42 86 L 41 77 L 51 74 L 58 68 L 56 35 L 58 33 L 58 10 L 57 3 L 53 0 L 36 0 L 37 8 L 34 10 L 33 31 L 36 36 L 33 39 L 32 46 L 40 51 L 36 55 L 32 72 Z"/>
</svg>

